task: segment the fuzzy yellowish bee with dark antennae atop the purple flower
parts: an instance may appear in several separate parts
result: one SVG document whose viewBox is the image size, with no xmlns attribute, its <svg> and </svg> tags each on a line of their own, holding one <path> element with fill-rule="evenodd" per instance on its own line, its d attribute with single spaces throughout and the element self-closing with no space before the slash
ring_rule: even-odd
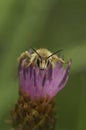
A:
<svg viewBox="0 0 86 130">
<path fill-rule="evenodd" d="M 62 64 L 67 64 L 68 62 L 65 62 L 62 58 L 58 57 L 56 54 L 61 52 L 62 49 L 52 53 L 48 49 L 40 48 L 35 50 L 32 48 L 32 52 L 25 51 L 23 52 L 18 60 L 20 61 L 22 58 L 24 58 L 23 62 L 25 62 L 28 59 L 28 65 L 29 67 L 31 64 L 36 65 L 40 68 L 40 70 L 47 69 L 50 65 L 53 67 L 56 65 L 57 62 L 60 62 Z"/>
</svg>

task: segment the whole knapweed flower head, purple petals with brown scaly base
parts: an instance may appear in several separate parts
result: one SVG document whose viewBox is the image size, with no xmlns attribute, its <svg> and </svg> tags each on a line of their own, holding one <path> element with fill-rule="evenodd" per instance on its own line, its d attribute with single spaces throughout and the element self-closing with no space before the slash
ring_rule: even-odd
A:
<svg viewBox="0 0 86 130">
<path fill-rule="evenodd" d="M 26 54 L 19 60 L 19 98 L 12 112 L 14 130 L 54 130 L 54 99 L 67 83 L 71 61 L 66 68 L 56 62 L 54 67 L 48 63 L 46 69 L 40 69 L 37 59 L 30 65 L 29 62 Z"/>
</svg>

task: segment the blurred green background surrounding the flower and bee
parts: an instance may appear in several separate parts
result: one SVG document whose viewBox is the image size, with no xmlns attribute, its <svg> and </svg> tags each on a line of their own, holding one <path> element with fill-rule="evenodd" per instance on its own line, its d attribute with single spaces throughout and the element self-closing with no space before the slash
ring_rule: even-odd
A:
<svg viewBox="0 0 86 130">
<path fill-rule="evenodd" d="M 86 130 L 86 1 L 0 0 L 0 130 L 12 128 L 5 120 L 18 98 L 17 57 L 30 47 L 63 48 L 72 59 L 56 130 Z"/>
</svg>

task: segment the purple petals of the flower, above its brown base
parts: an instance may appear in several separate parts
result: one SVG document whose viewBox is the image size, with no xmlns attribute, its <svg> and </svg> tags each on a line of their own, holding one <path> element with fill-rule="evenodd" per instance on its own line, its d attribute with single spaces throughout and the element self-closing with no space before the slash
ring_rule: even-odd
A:
<svg viewBox="0 0 86 130">
<path fill-rule="evenodd" d="M 27 62 L 22 67 L 22 63 L 23 60 L 19 65 L 19 89 L 29 94 L 32 100 L 46 96 L 53 98 L 67 83 L 71 61 L 66 68 L 58 62 L 54 68 L 51 65 L 45 70 L 33 65 L 26 67 Z"/>
</svg>

